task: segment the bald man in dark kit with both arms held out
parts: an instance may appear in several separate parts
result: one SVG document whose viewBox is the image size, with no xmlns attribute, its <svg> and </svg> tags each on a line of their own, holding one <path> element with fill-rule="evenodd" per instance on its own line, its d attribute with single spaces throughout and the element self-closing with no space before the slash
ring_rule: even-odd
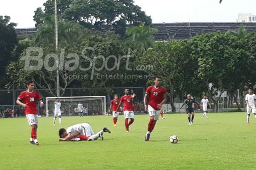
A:
<svg viewBox="0 0 256 170">
<path fill-rule="evenodd" d="M 195 111 L 193 108 L 193 103 L 197 103 L 197 105 L 201 106 L 201 104 L 197 101 L 195 101 L 194 99 L 191 98 L 191 95 L 188 94 L 187 99 L 184 101 L 184 103 L 181 105 L 180 109 L 186 104 L 186 111 L 188 114 L 188 122 L 189 125 L 193 125 L 194 122 L 194 117 L 195 117 Z M 191 114 L 192 114 L 192 119 L 191 119 Z"/>
</svg>

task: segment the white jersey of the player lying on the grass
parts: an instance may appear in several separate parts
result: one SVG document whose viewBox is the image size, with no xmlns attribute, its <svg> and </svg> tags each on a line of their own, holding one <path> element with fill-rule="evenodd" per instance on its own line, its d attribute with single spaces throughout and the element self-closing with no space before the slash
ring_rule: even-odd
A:
<svg viewBox="0 0 256 170">
<path fill-rule="evenodd" d="M 91 129 L 91 125 L 89 125 L 88 123 L 79 123 L 79 124 L 69 126 L 67 128 L 67 133 L 71 133 L 73 137 L 75 135 L 85 135 L 85 136 L 94 135 L 94 132 Z"/>
</svg>

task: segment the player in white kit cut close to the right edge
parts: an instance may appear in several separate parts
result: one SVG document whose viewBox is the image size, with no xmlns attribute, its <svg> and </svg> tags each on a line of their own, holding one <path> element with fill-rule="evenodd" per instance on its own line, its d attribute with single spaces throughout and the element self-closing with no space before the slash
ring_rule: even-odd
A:
<svg viewBox="0 0 256 170">
<path fill-rule="evenodd" d="M 247 110 L 247 124 L 250 124 L 250 115 L 251 112 L 254 114 L 255 118 L 256 118 L 256 107 L 255 107 L 255 103 L 256 103 L 256 95 L 253 94 L 253 90 L 252 88 L 249 88 L 248 90 L 248 94 L 246 94 L 245 96 L 245 102 L 247 104 L 246 106 L 246 110 Z"/>
</svg>

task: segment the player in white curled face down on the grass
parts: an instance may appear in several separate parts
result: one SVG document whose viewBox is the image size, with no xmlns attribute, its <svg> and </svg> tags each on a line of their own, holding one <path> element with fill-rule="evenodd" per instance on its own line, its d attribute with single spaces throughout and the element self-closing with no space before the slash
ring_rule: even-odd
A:
<svg viewBox="0 0 256 170">
<path fill-rule="evenodd" d="M 111 133 L 108 128 L 103 128 L 98 133 L 94 133 L 91 125 L 88 123 L 79 123 L 69 126 L 66 129 L 61 128 L 59 130 L 59 141 L 80 141 L 80 140 L 97 140 L 99 137 L 103 140 L 103 133 Z"/>
</svg>

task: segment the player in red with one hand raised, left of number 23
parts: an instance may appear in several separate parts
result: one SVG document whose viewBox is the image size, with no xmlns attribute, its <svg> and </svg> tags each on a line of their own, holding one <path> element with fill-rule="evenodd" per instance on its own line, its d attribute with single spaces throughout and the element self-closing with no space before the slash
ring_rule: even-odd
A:
<svg viewBox="0 0 256 170">
<path fill-rule="evenodd" d="M 117 108 L 119 108 L 120 105 L 123 103 L 124 118 L 125 118 L 124 124 L 125 124 L 125 128 L 126 128 L 126 132 L 130 132 L 129 126 L 134 122 L 134 119 L 135 119 L 133 109 L 132 109 L 132 103 L 134 102 L 134 97 L 136 96 L 136 94 L 129 95 L 130 91 L 128 88 L 124 90 L 124 93 L 125 93 L 125 95 L 123 97 L 121 97 L 120 103 L 117 106 Z M 128 123 L 129 119 L 130 119 L 130 121 Z"/>
</svg>

